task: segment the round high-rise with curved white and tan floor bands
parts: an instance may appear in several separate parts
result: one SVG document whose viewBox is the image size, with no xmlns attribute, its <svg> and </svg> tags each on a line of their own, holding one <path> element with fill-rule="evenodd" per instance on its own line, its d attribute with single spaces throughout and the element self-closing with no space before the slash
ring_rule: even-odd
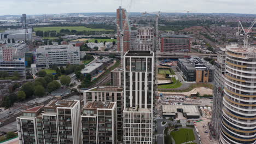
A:
<svg viewBox="0 0 256 144">
<path fill-rule="evenodd" d="M 256 51 L 226 48 L 226 75 L 220 143 L 256 142 Z"/>
</svg>

